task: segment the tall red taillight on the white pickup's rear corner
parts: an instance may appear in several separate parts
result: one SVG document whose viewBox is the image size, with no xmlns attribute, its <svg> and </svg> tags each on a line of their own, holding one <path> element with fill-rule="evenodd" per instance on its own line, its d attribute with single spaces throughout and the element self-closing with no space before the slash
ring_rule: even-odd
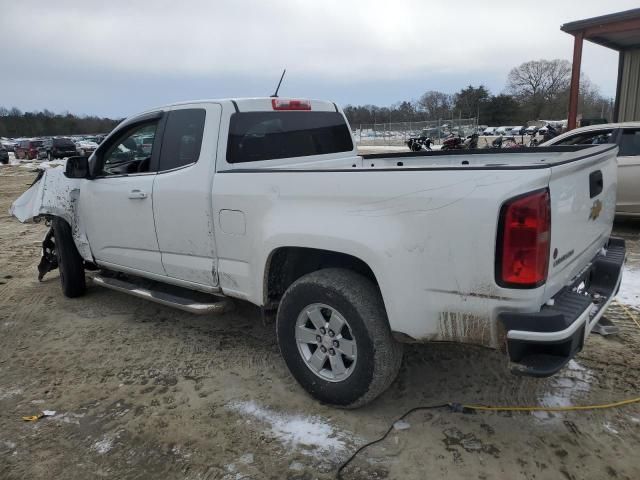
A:
<svg viewBox="0 0 640 480">
<path fill-rule="evenodd" d="M 502 287 L 534 288 L 547 280 L 551 241 L 549 190 L 507 201 L 500 212 L 496 281 Z"/>
</svg>

